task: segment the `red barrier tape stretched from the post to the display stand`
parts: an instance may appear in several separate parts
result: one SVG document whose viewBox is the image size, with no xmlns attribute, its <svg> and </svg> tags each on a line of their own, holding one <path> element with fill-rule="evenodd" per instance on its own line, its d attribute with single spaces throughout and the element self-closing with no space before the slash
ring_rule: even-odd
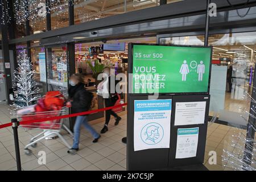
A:
<svg viewBox="0 0 256 182">
<path fill-rule="evenodd" d="M 56 117 L 40 118 L 40 119 L 34 119 L 34 120 L 26 120 L 26 121 L 19 122 L 19 125 L 27 125 L 27 124 L 35 123 L 35 122 L 52 121 L 52 120 L 55 120 L 55 119 L 72 118 L 72 117 L 77 117 L 79 115 L 88 115 L 88 114 L 98 113 L 98 112 L 101 112 L 101 111 L 110 110 L 110 109 L 114 109 L 114 108 L 122 107 L 122 106 L 126 106 L 126 105 L 127 105 L 127 103 L 119 104 L 119 105 L 115 105 L 115 106 L 110 106 L 110 107 L 105 107 L 105 108 L 102 108 L 102 109 L 89 110 L 89 111 L 85 111 L 85 112 L 81 112 L 81 113 L 60 115 L 60 116 L 56 116 Z M 13 125 L 12 123 L 6 123 L 6 124 L 3 124 L 3 125 L 0 125 L 0 129 L 2 129 L 4 127 L 9 127 L 9 126 L 12 126 L 12 125 Z"/>
</svg>

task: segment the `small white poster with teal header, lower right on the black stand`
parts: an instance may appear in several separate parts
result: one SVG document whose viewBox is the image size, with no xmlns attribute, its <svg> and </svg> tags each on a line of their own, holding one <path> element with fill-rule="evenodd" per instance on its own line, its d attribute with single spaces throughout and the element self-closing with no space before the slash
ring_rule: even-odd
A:
<svg viewBox="0 0 256 182">
<path fill-rule="evenodd" d="M 175 159 L 193 158 L 196 156 L 199 127 L 177 130 Z"/>
</svg>

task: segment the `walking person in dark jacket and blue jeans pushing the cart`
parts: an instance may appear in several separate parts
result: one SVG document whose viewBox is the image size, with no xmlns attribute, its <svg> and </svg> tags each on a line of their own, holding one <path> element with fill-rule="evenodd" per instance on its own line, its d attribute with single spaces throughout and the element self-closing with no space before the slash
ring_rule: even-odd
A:
<svg viewBox="0 0 256 182">
<path fill-rule="evenodd" d="M 79 73 L 73 74 L 70 78 L 69 96 L 71 98 L 71 111 L 72 113 L 80 113 L 88 111 L 92 102 L 93 94 L 85 89 L 85 85 L 82 83 L 84 80 Z M 73 137 L 73 147 L 68 150 L 69 154 L 76 154 L 79 150 L 79 139 L 80 139 L 80 129 L 81 125 L 84 125 L 93 136 L 93 143 L 98 142 L 101 137 L 92 126 L 89 125 L 86 115 L 81 115 L 76 117 L 76 122 L 74 126 L 74 137 Z"/>
</svg>

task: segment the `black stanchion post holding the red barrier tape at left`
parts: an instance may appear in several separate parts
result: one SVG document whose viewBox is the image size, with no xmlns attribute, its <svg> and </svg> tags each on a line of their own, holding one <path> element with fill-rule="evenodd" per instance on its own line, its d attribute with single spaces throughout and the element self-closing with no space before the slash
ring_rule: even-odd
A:
<svg viewBox="0 0 256 182">
<path fill-rule="evenodd" d="M 19 122 L 18 122 L 18 120 L 16 118 L 11 119 L 11 122 L 13 123 L 13 135 L 14 135 L 14 145 L 15 145 L 17 170 L 21 171 L 22 168 L 21 168 L 21 163 L 20 163 L 19 137 L 18 137 Z"/>
</svg>

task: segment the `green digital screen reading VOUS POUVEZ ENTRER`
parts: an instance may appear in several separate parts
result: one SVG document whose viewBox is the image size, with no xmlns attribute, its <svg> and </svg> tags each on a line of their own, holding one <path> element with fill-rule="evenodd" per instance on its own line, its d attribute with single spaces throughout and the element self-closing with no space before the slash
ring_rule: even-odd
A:
<svg viewBox="0 0 256 182">
<path fill-rule="evenodd" d="M 211 47 L 132 45 L 132 93 L 208 92 Z"/>
</svg>

